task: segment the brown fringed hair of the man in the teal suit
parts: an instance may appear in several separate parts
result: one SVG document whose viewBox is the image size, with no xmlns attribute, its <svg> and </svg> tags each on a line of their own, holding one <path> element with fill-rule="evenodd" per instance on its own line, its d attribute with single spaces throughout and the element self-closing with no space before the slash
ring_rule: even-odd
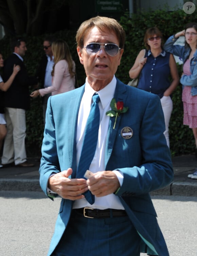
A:
<svg viewBox="0 0 197 256">
<path fill-rule="evenodd" d="M 96 16 L 84 21 L 77 30 L 76 42 L 80 48 L 84 47 L 84 37 L 93 28 L 97 27 L 101 31 L 108 30 L 110 33 L 114 32 L 119 41 L 119 47 L 124 48 L 125 31 L 118 21 L 108 17 Z"/>
</svg>

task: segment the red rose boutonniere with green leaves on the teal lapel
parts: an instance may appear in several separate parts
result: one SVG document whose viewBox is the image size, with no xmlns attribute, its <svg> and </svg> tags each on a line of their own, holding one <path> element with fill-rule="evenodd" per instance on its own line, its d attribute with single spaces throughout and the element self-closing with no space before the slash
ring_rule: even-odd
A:
<svg viewBox="0 0 197 256">
<path fill-rule="evenodd" d="M 107 111 L 106 115 L 108 115 L 110 117 L 115 116 L 115 122 L 114 122 L 114 126 L 113 126 L 113 129 L 115 129 L 117 117 L 119 117 L 121 113 L 127 112 L 128 107 L 124 107 L 123 101 L 116 102 L 115 99 L 111 100 L 110 107 L 111 107 L 111 110 Z"/>
</svg>

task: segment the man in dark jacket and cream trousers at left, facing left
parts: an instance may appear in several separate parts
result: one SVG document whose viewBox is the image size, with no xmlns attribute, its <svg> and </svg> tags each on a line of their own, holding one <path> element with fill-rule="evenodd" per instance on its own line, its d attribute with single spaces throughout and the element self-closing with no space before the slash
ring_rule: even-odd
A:
<svg viewBox="0 0 197 256">
<path fill-rule="evenodd" d="M 25 40 L 14 38 L 11 44 L 13 53 L 4 63 L 3 81 L 11 76 L 13 66 L 19 65 L 20 71 L 10 88 L 3 94 L 3 106 L 7 122 L 7 135 L 4 141 L 2 164 L 7 166 L 15 164 L 18 167 L 31 167 L 34 164 L 26 160 L 25 136 L 26 121 L 25 110 L 30 108 L 29 86 L 36 85 L 37 79 L 29 77 L 23 57 L 27 50 Z"/>
</svg>

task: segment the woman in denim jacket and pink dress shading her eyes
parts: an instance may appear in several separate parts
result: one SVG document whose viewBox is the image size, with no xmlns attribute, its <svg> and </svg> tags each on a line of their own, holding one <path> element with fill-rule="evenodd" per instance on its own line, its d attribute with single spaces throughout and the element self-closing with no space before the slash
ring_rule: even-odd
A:
<svg viewBox="0 0 197 256">
<path fill-rule="evenodd" d="M 185 36 L 185 46 L 174 45 L 179 36 Z M 183 73 L 180 79 L 183 89 L 183 124 L 192 128 L 197 147 L 197 23 L 188 23 L 185 30 L 169 37 L 164 49 L 183 60 Z M 188 177 L 197 179 L 197 169 Z"/>
</svg>

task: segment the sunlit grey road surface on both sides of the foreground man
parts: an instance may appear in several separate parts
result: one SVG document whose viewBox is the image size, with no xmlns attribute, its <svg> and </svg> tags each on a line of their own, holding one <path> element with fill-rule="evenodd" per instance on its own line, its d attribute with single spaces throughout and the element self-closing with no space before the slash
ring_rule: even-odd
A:
<svg viewBox="0 0 197 256">
<path fill-rule="evenodd" d="M 196 256 L 197 197 L 162 195 L 152 199 L 169 255 Z M 0 256 L 46 256 L 60 200 L 52 201 L 43 192 L 0 191 Z"/>
</svg>

